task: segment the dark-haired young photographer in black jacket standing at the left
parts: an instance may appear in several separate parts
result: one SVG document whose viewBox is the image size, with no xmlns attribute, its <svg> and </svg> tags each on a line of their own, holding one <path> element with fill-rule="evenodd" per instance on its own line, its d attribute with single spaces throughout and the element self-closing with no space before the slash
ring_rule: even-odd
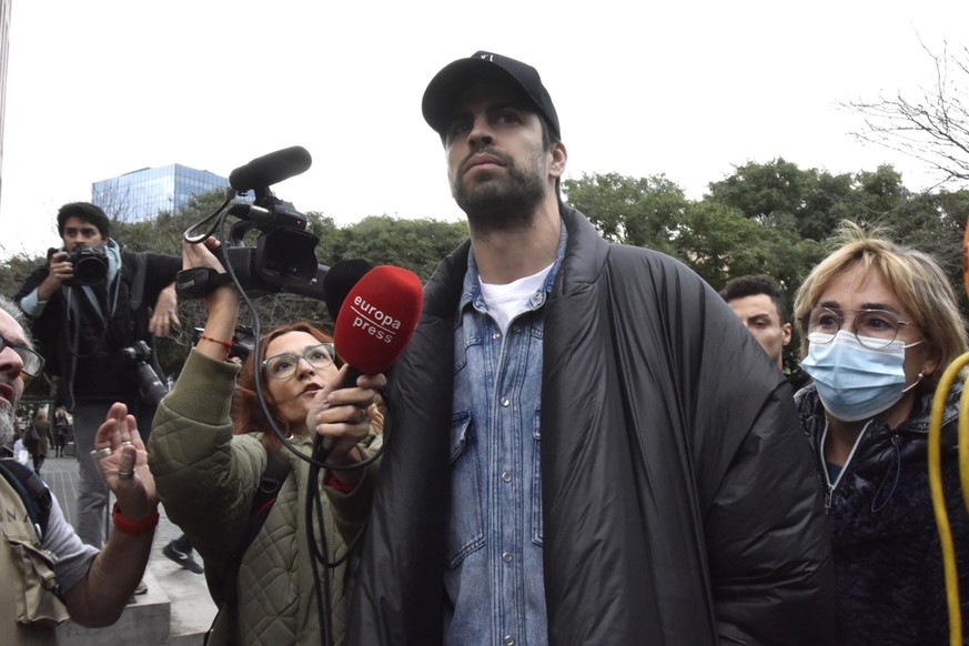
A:
<svg viewBox="0 0 969 646">
<path fill-rule="evenodd" d="M 78 534 L 101 547 L 108 488 L 90 455 L 94 433 L 115 401 L 128 406 L 139 427 L 151 428 L 158 397 L 144 387 L 139 369 L 147 362 L 158 371 L 153 335 L 166 336 L 179 324 L 173 281 L 181 262 L 123 251 L 109 238 L 104 211 L 88 202 L 61 206 L 58 233 L 63 246 L 49 251 L 48 264 L 28 276 L 14 301 L 30 317 L 46 372 L 60 380 L 59 403 L 73 414 L 80 464 Z M 176 556 L 188 561 L 169 555 L 168 547 L 166 555 L 201 572 L 183 543 Z"/>
</svg>

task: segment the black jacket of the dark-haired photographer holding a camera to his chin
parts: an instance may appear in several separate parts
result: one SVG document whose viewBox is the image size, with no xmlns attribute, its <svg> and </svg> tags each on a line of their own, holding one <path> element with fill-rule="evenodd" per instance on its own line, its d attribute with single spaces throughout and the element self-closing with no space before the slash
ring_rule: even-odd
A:
<svg viewBox="0 0 969 646">
<path fill-rule="evenodd" d="M 132 290 L 139 274 L 139 260 L 143 261 L 144 283 L 141 301 L 132 306 Z M 102 311 L 113 315 L 102 317 L 82 287 L 62 286 L 47 303 L 40 316 L 30 320 L 30 330 L 38 350 L 46 360 L 44 372 L 61 376 L 65 388 L 75 398 L 132 398 L 138 396 L 138 383 L 132 378 L 133 362 L 121 352 L 134 341 L 142 340 L 153 350 L 152 335 L 148 331 L 151 309 L 159 293 L 170 285 L 181 270 L 176 256 L 158 253 L 121 252 L 121 270 L 115 276 L 118 297 L 113 294 L 115 283 L 107 282 L 92 289 L 103 304 Z M 48 265 L 34 270 L 13 296 L 14 302 L 32 292 L 48 274 Z M 154 353 L 150 363 L 155 363 Z M 63 401 L 72 405 L 70 398 Z"/>
</svg>

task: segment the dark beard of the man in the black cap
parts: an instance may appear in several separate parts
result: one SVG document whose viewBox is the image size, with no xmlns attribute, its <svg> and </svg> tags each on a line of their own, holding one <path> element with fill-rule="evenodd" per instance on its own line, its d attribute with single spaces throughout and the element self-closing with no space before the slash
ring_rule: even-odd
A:
<svg viewBox="0 0 969 646">
<path fill-rule="evenodd" d="M 468 185 L 464 174 L 451 182 L 451 194 L 467 221 L 477 233 L 527 229 L 535 218 L 538 204 L 545 198 L 545 174 L 542 172 L 544 151 L 531 160 L 528 166 L 519 166 L 504 153 L 493 150 L 487 154 L 502 161 L 505 166 L 495 173 L 505 176 L 478 178 Z"/>
</svg>

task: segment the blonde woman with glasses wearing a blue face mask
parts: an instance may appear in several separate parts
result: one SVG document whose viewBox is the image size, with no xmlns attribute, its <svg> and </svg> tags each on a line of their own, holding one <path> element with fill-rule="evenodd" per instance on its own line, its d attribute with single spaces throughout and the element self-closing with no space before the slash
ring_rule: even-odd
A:
<svg viewBox="0 0 969 646">
<path fill-rule="evenodd" d="M 938 377 L 966 352 L 949 282 L 929 255 L 849 222 L 842 245 L 798 290 L 796 402 L 826 485 L 839 643 L 948 644 L 945 582 L 928 483 Z M 961 382 L 949 394 L 943 480 L 969 619 L 969 514 L 957 455 Z"/>
</svg>

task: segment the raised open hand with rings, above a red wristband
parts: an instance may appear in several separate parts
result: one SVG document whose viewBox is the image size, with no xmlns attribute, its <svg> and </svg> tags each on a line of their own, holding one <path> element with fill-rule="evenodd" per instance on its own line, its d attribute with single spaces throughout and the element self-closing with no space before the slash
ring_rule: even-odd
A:
<svg viewBox="0 0 969 646">
<path fill-rule="evenodd" d="M 157 511 L 158 494 L 148 468 L 148 452 L 128 406 L 121 403 L 111 406 L 94 436 L 91 456 L 125 517 L 137 521 Z"/>
</svg>

